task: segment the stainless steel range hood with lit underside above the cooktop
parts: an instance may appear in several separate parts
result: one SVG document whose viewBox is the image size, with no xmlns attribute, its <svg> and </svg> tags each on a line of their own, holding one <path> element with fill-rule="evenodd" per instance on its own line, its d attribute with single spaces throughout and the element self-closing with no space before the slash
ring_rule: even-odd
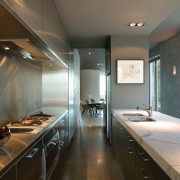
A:
<svg viewBox="0 0 180 180">
<path fill-rule="evenodd" d="M 2 2 L 1 2 L 2 3 Z M 67 68 L 62 59 L 7 5 L 0 3 L 0 48 L 26 61 L 54 68 Z"/>
</svg>

